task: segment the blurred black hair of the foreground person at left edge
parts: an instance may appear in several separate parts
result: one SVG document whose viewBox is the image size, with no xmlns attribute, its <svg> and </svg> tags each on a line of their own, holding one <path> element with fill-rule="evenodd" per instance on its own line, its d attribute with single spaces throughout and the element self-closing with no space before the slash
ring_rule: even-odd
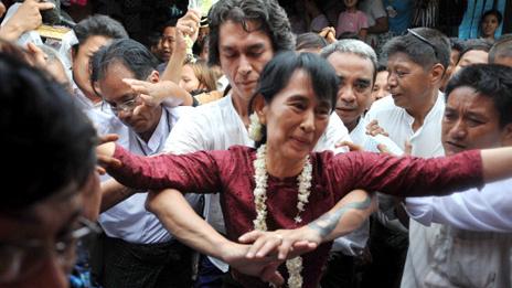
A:
<svg viewBox="0 0 512 288">
<path fill-rule="evenodd" d="M 78 191 L 96 164 L 96 131 L 87 117 L 61 85 L 4 53 L 0 82 L 0 142 L 9 166 L 0 210 L 28 207 L 71 184 Z"/>
</svg>

